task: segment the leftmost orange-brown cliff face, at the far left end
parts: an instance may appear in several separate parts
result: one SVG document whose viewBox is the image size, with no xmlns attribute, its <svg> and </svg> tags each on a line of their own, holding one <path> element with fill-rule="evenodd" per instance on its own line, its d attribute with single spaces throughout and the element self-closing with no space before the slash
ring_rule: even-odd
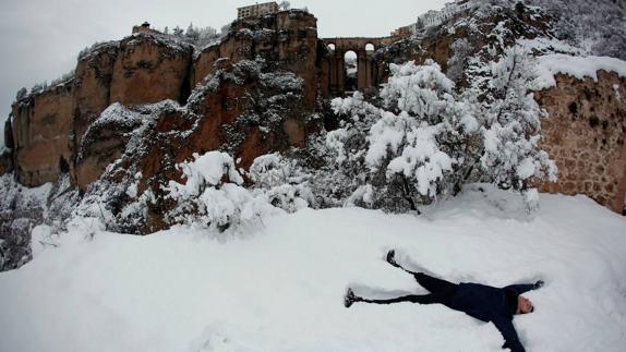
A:
<svg viewBox="0 0 626 352">
<path fill-rule="evenodd" d="M 73 101 L 70 81 L 13 105 L 15 175 L 23 185 L 56 181 L 69 171 Z"/>
</svg>

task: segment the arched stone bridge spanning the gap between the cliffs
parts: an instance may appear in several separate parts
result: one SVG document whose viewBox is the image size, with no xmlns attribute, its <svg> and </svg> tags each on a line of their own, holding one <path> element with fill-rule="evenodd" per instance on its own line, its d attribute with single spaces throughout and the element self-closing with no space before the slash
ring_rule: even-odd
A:
<svg viewBox="0 0 626 352">
<path fill-rule="evenodd" d="M 357 88 L 364 89 L 378 85 L 378 66 L 372 54 L 390 38 L 323 38 L 330 51 L 328 85 L 333 96 L 341 96 L 349 87 L 346 85 L 345 57 L 348 51 L 357 54 Z"/>
</svg>

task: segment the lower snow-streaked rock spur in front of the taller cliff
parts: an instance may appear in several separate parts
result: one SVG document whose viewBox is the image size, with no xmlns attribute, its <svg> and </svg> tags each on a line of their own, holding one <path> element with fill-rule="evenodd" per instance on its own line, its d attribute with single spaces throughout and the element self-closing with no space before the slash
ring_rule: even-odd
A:
<svg viewBox="0 0 626 352">
<path fill-rule="evenodd" d="M 100 141 L 103 150 L 81 155 L 81 158 L 94 160 L 89 161 L 93 168 L 98 166 L 97 158 L 105 150 L 120 150 L 122 145 L 125 149 L 115 156 L 119 157 L 115 165 L 101 169 L 104 175 L 89 192 L 100 192 L 101 184 L 108 189 L 130 184 L 134 175 L 141 174 L 137 194 L 149 193 L 156 201 L 146 205 L 148 211 L 141 221 L 125 218 L 123 211 L 112 211 L 115 223 L 120 231 L 133 233 L 164 229 L 168 226 L 165 215 L 171 210 L 164 189 L 170 180 L 183 182 L 176 166 L 192 160 L 194 153 L 224 150 L 239 160 L 238 167 L 248 168 L 261 155 L 304 146 L 305 136 L 318 131 L 321 122 L 314 118 L 314 110 L 306 109 L 303 102 L 303 80 L 292 72 L 269 70 L 261 59 L 242 60 L 234 64 L 222 62 L 205 85 L 192 92 L 183 107 L 171 100 L 144 107 L 148 109 L 145 118 L 139 107 L 118 111 L 111 107 L 85 137 L 86 143 Z M 129 113 L 131 117 L 124 118 Z M 123 125 L 123 121 L 136 121 L 136 124 Z M 111 131 L 129 135 L 131 139 L 109 146 L 107 141 L 119 142 L 111 137 L 116 134 Z M 106 163 L 99 166 L 106 167 Z M 123 192 L 107 196 L 111 198 L 107 204 L 132 202 Z"/>
</svg>

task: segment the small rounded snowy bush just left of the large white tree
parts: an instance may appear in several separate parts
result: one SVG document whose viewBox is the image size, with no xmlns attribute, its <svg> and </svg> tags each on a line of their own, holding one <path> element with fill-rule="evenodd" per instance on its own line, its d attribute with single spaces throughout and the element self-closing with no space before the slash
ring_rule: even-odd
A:
<svg viewBox="0 0 626 352">
<path fill-rule="evenodd" d="M 250 167 L 250 179 L 256 192 L 264 193 L 269 203 L 287 213 L 315 205 L 309 187 L 309 178 L 294 159 L 278 153 L 254 159 Z"/>
</svg>

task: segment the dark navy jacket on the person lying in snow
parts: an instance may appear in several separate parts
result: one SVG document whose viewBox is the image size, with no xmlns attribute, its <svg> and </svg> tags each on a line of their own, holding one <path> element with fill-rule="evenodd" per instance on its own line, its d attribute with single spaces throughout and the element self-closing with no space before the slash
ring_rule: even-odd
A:
<svg viewBox="0 0 626 352">
<path fill-rule="evenodd" d="M 503 348 L 510 349 L 511 352 L 525 352 L 513 326 L 515 306 L 511 305 L 511 298 L 517 300 L 519 294 L 533 288 L 532 283 L 511 284 L 502 289 L 479 283 L 459 283 L 450 308 L 464 312 L 479 320 L 493 323 L 504 336 Z"/>
</svg>

